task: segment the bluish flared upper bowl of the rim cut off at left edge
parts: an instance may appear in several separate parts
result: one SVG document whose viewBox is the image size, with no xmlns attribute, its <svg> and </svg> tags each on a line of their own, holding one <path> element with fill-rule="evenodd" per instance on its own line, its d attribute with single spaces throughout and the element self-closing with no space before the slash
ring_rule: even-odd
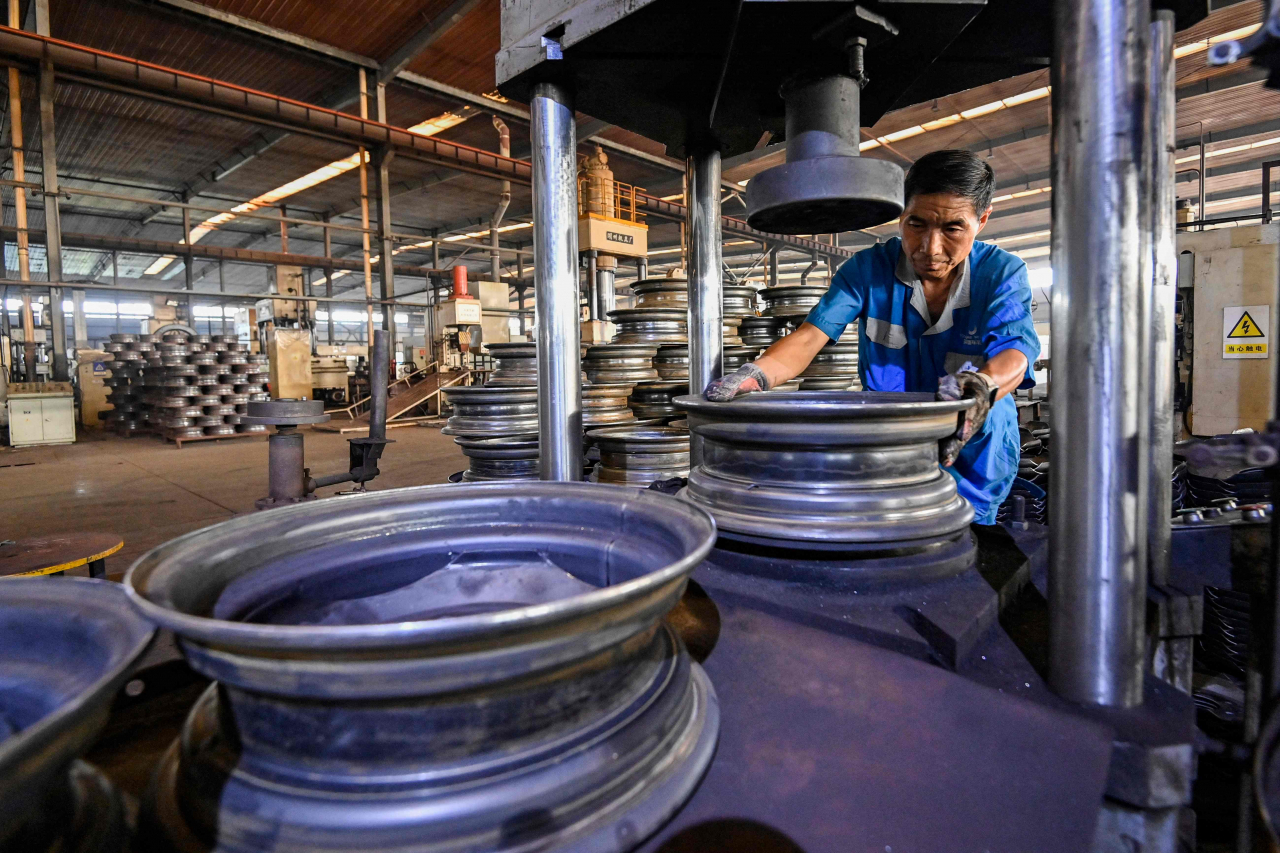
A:
<svg viewBox="0 0 1280 853">
<path fill-rule="evenodd" d="M 154 634 L 119 584 L 0 581 L 0 848 L 29 843 L 18 834 L 65 793 L 72 762 L 106 724 Z M 70 829 L 72 817 L 63 812 L 55 831 Z"/>
</svg>

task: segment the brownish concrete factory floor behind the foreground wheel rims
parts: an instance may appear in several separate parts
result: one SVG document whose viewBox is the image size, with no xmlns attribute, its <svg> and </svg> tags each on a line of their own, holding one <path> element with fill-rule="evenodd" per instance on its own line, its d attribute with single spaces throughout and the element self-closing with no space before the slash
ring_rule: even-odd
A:
<svg viewBox="0 0 1280 853">
<path fill-rule="evenodd" d="M 312 474 L 348 467 L 347 439 L 305 429 Z M 370 491 L 444 483 L 466 457 L 436 426 L 388 433 Z M 344 487 L 321 489 L 335 494 Z M 346 484 L 349 488 L 349 484 Z M 106 561 L 119 578 L 150 548 L 191 530 L 252 512 L 266 494 L 266 439 L 195 442 L 119 438 L 81 429 L 61 447 L 0 447 L 0 539 L 79 530 L 116 533 L 124 548 Z M 73 573 L 74 574 L 74 573 Z"/>
</svg>

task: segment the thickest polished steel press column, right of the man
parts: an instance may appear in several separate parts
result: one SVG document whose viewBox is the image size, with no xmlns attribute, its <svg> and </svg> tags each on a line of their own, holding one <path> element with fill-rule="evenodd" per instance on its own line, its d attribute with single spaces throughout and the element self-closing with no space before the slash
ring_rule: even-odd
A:
<svg viewBox="0 0 1280 853">
<path fill-rule="evenodd" d="M 1139 418 L 1144 0 L 1055 4 L 1050 684 L 1142 702 L 1146 530 Z M 1167 488 L 1167 484 L 1166 484 Z"/>
</svg>

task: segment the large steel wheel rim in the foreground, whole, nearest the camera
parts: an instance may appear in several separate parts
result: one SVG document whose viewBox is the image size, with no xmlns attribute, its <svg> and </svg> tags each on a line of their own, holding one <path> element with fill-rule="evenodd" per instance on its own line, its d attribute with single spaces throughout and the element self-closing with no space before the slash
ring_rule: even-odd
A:
<svg viewBox="0 0 1280 853">
<path fill-rule="evenodd" d="M 159 770 L 150 831 L 228 850 L 640 843 L 714 751 L 714 693 L 660 624 L 713 539 L 705 512 L 641 489 L 477 483 L 154 549 L 129 594 L 220 684 Z"/>
</svg>

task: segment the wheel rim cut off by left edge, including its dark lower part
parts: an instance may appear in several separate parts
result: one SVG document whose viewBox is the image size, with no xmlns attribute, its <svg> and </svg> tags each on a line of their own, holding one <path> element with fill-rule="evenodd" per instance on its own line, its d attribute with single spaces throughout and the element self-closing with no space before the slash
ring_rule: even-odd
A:
<svg viewBox="0 0 1280 853">
<path fill-rule="evenodd" d="M 124 798 L 79 761 L 155 628 L 115 583 L 0 583 L 0 849 L 124 853 Z"/>
</svg>

